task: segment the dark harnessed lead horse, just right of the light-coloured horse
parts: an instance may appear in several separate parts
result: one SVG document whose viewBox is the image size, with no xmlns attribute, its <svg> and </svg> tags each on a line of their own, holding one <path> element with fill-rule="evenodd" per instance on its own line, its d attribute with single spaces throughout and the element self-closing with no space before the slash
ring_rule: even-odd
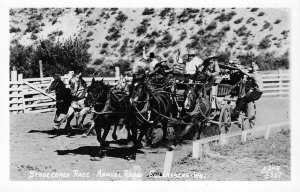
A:
<svg viewBox="0 0 300 192">
<path fill-rule="evenodd" d="M 129 111 L 127 102 L 129 99 L 123 94 L 114 93 L 111 89 L 112 87 L 105 84 L 103 80 L 95 81 L 93 78 L 85 100 L 88 105 L 93 107 L 93 121 L 97 140 L 100 143 L 100 157 L 103 156 L 103 150 L 106 146 L 105 140 L 111 125 L 123 127 Z M 104 130 L 102 135 L 101 129 Z M 113 137 L 116 139 L 116 135 L 113 135 Z"/>
</svg>

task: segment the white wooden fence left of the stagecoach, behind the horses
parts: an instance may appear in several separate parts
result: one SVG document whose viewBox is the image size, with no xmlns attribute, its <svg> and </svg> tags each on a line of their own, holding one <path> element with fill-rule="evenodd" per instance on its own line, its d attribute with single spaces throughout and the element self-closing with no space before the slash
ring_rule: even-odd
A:
<svg viewBox="0 0 300 192">
<path fill-rule="evenodd" d="M 72 71 L 64 75 L 61 79 L 68 85 L 72 76 Z M 92 81 L 92 77 L 83 78 L 87 84 Z M 96 77 L 96 80 L 103 79 L 109 84 L 115 84 L 119 79 L 119 73 L 115 77 Z M 52 77 L 23 79 L 22 74 L 17 71 L 11 72 L 9 82 L 9 110 L 13 114 L 18 113 L 41 113 L 55 110 L 55 94 L 46 93 L 50 86 Z"/>
</svg>

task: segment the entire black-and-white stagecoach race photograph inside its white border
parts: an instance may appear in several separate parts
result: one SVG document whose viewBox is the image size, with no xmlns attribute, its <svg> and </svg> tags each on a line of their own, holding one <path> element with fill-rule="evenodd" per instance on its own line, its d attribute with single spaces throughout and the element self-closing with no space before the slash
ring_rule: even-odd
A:
<svg viewBox="0 0 300 192">
<path fill-rule="evenodd" d="M 7 7 L 8 180 L 291 182 L 290 4 Z"/>
</svg>

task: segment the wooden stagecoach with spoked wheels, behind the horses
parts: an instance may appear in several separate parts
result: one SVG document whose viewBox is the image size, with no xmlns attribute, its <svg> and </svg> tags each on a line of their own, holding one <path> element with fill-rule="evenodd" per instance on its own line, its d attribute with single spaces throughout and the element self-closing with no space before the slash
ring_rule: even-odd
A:
<svg viewBox="0 0 300 192">
<path fill-rule="evenodd" d="M 229 69 L 231 72 L 238 71 L 238 68 L 222 65 L 220 64 L 221 70 Z M 243 108 L 239 114 L 239 117 L 236 120 L 232 120 L 231 113 L 232 110 L 236 106 L 236 101 L 239 97 L 242 97 L 245 94 L 245 83 L 244 81 L 239 81 L 236 83 L 232 83 L 231 75 L 229 73 L 221 73 L 221 75 L 216 77 L 216 81 L 211 88 L 209 94 L 209 100 L 211 105 L 211 111 L 207 119 L 208 123 L 216 124 L 219 126 L 220 133 L 224 133 L 229 131 L 229 128 L 236 124 L 242 130 L 249 129 L 254 126 L 254 120 L 251 122 L 248 120 L 247 109 Z M 204 82 L 193 82 L 193 83 L 182 83 L 176 82 L 177 87 L 177 99 L 180 108 L 183 107 L 183 92 L 187 86 L 190 85 L 201 85 L 205 86 Z M 233 93 L 233 89 L 235 89 L 235 94 Z M 254 110 L 255 103 L 254 103 Z M 254 111 L 256 114 L 256 111 Z"/>
</svg>

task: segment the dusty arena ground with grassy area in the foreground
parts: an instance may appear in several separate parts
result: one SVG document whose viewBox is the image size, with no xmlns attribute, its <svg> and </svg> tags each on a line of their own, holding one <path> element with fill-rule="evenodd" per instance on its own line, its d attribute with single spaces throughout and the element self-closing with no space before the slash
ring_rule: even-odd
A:
<svg viewBox="0 0 300 192">
<path fill-rule="evenodd" d="M 257 111 L 258 126 L 289 121 L 289 100 L 258 101 Z M 96 137 L 55 137 L 51 131 L 53 117 L 54 113 L 10 116 L 12 180 L 126 180 L 129 178 L 124 170 L 134 166 L 140 168 L 142 180 L 174 179 L 151 177 L 162 172 L 166 148 L 138 151 L 134 162 L 125 159 L 131 150 L 114 148 L 101 161 L 93 161 L 98 150 Z M 188 141 L 174 153 L 172 173 L 181 174 L 179 180 L 266 180 L 263 170 L 268 166 L 273 166 L 268 171 L 269 176 L 273 174 L 269 179 L 290 179 L 289 131 L 272 133 L 269 140 L 253 138 L 242 145 L 211 145 L 210 152 L 201 160 L 192 160 L 191 151 Z M 280 178 L 274 177 L 274 171 L 277 176 L 280 172 Z M 101 177 L 100 172 L 113 175 Z M 193 177 L 194 172 L 198 178 Z M 190 177 L 182 177 L 182 173 Z"/>
</svg>

